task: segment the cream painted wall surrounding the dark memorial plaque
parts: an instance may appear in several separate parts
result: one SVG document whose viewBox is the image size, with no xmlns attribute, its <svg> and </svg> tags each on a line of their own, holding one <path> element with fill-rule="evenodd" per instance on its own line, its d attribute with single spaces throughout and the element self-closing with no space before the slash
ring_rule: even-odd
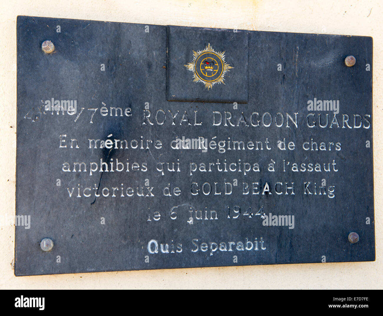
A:
<svg viewBox="0 0 383 316">
<path fill-rule="evenodd" d="M 0 227 L 0 288 L 383 288 L 383 10 L 380 0 L 1 0 L 0 215 L 15 215 L 16 16 L 372 36 L 376 261 L 15 277 L 14 227 Z M 209 10 L 203 10 L 206 5 Z M 214 15 L 211 15 L 214 12 Z M 106 35 L 107 36 L 107 35 Z"/>
</svg>

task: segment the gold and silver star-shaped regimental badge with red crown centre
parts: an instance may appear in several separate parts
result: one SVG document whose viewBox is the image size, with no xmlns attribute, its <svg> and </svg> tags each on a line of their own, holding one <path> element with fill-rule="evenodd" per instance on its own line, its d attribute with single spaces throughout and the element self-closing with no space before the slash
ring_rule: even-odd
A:
<svg viewBox="0 0 383 316">
<path fill-rule="evenodd" d="M 202 82 L 205 87 L 213 87 L 214 84 L 223 83 L 226 71 L 234 67 L 225 62 L 225 52 L 217 52 L 210 46 L 202 51 L 193 51 L 193 62 L 185 65 L 188 70 L 193 71 L 193 82 Z"/>
</svg>

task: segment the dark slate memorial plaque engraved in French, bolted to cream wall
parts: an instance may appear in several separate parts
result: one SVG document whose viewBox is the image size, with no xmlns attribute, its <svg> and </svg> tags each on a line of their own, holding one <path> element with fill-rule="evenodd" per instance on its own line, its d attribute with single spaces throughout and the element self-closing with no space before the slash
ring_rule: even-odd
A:
<svg viewBox="0 0 383 316">
<path fill-rule="evenodd" d="M 370 37 L 19 16 L 15 275 L 373 261 L 372 148 Z"/>
</svg>

